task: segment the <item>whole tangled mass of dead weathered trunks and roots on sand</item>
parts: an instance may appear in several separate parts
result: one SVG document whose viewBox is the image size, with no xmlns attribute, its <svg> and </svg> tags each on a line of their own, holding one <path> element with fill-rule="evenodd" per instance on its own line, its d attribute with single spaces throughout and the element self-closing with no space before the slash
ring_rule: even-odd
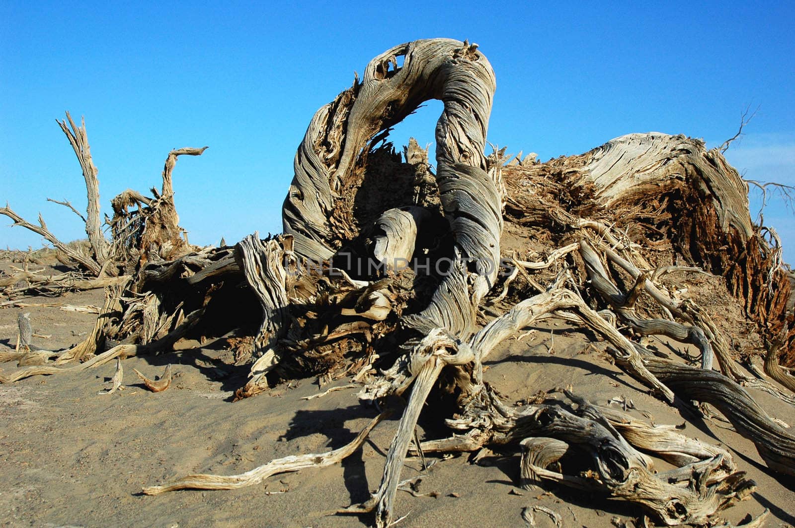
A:
<svg viewBox="0 0 795 528">
<path fill-rule="evenodd" d="M 298 454 L 236 476 L 186 476 L 145 488 L 152 495 L 239 488 L 333 464 L 396 411 L 402 418 L 381 485 L 348 510 L 374 511 L 378 526 L 392 522 L 404 458 L 418 448 L 515 444 L 525 485 L 553 480 L 601 491 L 638 503 L 665 525 L 714 522 L 754 489 L 726 449 L 596 407 L 567 389 L 556 404 L 503 403 L 483 382 L 483 361 L 501 341 L 556 317 L 607 341 L 616 364 L 660 399 L 711 403 L 770 468 L 795 475 L 795 435 L 743 388 L 795 403 L 770 381 L 795 388 L 781 366 L 795 364 L 791 287 L 778 240 L 751 221 L 747 184 L 702 141 L 660 133 L 630 134 L 544 164 L 504 149 L 487 155 L 494 89 L 494 72 L 475 44 L 417 40 L 382 53 L 312 118 L 285 199 L 284 233 L 205 249 L 180 234 L 171 178 L 176 156 L 204 149 L 171 152 L 153 197 L 126 191 L 114 198 L 107 243 L 92 237 L 96 169 L 85 126 L 70 119 L 71 128 L 62 128 L 86 176 L 90 254 L 68 253 L 43 221 L 31 225 L 8 207 L 0 213 L 48 237 L 99 277 L 93 280 L 108 281 L 106 301 L 86 341 L 54 364 L 2 381 L 235 330 L 228 342 L 238 363 L 250 365 L 238 398 L 296 376 L 350 376 L 362 385 L 363 404 L 383 409 L 330 453 Z M 431 98 L 444 102 L 435 170 L 415 141 L 402 156 L 384 142 L 390 126 Z M 698 296 L 685 295 L 692 276 L 736 299 L 748 325 L 713 318 Z M 665 356 L 646 347 L 642 337 L 651 335 L 692 344 L 699 354 Z M 759 356 L 762 368 L 754 364 Z M 417 418 L 435 405 L 434 387 L 458 412 L 446 420 L 449 437 L 419 442 Z M 404 395 L 405 408 L 394 408 L 392 395 Z M 588 453 L 588 467 L 553 470 L 574 451 Z M 675 469 L 654 472 L 649 455 Z"/>
</svg>

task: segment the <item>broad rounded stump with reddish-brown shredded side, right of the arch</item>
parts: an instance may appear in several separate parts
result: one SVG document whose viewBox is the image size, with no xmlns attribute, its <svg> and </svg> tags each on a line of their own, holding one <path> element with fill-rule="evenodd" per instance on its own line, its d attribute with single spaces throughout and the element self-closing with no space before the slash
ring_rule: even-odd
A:
<svg viewBox="0 0 795 528">
<path fill-rule="evenodd" d="M 716 149 L 707 150 L 703 141 L 682 135 L 629 134 L 580 156 L 527 167 L 511 165 L 503 172 L 510 187 L 509 218 L 553 230 L 560 226 L 597 229 L 600 236 L 607 237 L 607 245 L 613 246 L 611 252 L 631 255 L 647 272 L 653 267 L 642 261 L 632 243 L 667 245 L 690 264 L 688 267 L 723 276 L 727 290 L 743 303 L 743 309 L 765 329 L 767 337 L 774 337 L 789 325 L 782 363 L 795 363 L 795 352 L 790 352 L 795 351 L 795 316 L 787 311 L 792 286 L 781 269 L 780 250 L 764 240 L 763 228 L 754 227 L 748 211 L 747 183 Z M 545 184 L 573 185 L 576 194 L 569 197 L 576 196 L 576 214 L 555 200 L 554 193 L 566 195 L 568 189 L 530 193 L 522 187 L 527 179 L 521 175 L 527 174 L 552 174 L 559 182 L 547 179 Z M 611 229 L 599 222 L 599 217 L 612 218 L 616 229 L 626 231 L 625 243 L 616 244 Z M 650 233 L 660 240 L 650 241 L 646 237 Z M 651 281 L 644 286 L 663 303 L 663 295 L 653 291 Z M 665 309 L 674 313 L 672 308 L 678 310 L 677 306 Z M 728 352 L 718 346 L 704 324 L 697 326 L 712 341 L 724 372 L 742 379 L 742 373 L 727 361 Z"/>
</svg>

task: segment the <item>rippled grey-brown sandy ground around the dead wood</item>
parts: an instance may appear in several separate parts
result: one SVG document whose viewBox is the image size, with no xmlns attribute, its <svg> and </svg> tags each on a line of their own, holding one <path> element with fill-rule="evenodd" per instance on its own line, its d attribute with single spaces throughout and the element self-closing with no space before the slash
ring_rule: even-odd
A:
<svg viewBox="0 0 795 528">
<path fill-rule="evenodd" d="M 102 299 L 101 291 L 91 291 L 20 300 L 101 305 Z M 0 349 L 14 347 L 20 311 L 0 309 Z M 37 333 L 52 336 L 34 338 L 34 345 L 45 349 L 81 341 L 95 320 L 57 307 L 24 311 L 31 313 Z M 551 322 L 521 340 L 506 341 L 489 357 L 485 376 L 510 403 L 571 385 L 594 403 L 606 405 L 616 396 L 631 399 L 655 423 L 685 422 L 685 414 L 646 395 L 599 352 L 602 344 L 589 347 L 588 340 L 587 334 Z M 0 525 L 366 526 L 369 516 L 334 511 L 362 502 L 378 487 L 397 418 L 379 425 L 359 453 L 333 467 L 273 476 L 236 491 L 140 493 L 142 486 L 190 472 L 234 474 L 276 457 L 339 447 L 376 414 L 358 403 L 355 390 L 301 399 L 320 391 L 316 380 L 232 403 L 245 369 L 232 366 L 231 353 L 215 345 L 182 341 L 176 352 L 125 360 L 126 389 L 113 395 L 98 392 L 109 387 L 105 382 L 114 364 L 0 385 Z M 157 394 L 146 391 L 132 371 L 138 368 L 154 377 L 169 363 L 176 378 L 168 391 Z M 6 363 L 0 368 L 8 374 L 17 367 Z M 775 418 L 795 426 L 795 409 L 752 393 Z M 421 418 L 421 436 L 444 435 L 433 425 L 440 417 L 427 414 Z M 739 467 L 758 483 L 750 498 L 723 512 L 724 518 L 738 523 L 770 508 L 765 526 L 795 526 L 795 481 L 767 469 L 750 441 L 717 418 L 688 421 L 683 432 L 729 446 Z M 399 491 L 395 515 L 407 517 L 398 526 L 524 526 L 522 508 L 533 505 L 556 511 L 563 526 L 615 526 L 616 518 L 628 521 L 642 514 L 632 504 L 553 485 L 521 490 L 516 449 L 474 458 L 429 456 L 432 467 L 422 472 L 420 460 L 409 457 L 403 478 L 421 476 L 419 491 L 438 495 L 413 497 Z M 660 462 L 661 469 L 666 467 Z M 543 514 L 535 518 L 536 526 L 553 526 Z"/>
</svg>

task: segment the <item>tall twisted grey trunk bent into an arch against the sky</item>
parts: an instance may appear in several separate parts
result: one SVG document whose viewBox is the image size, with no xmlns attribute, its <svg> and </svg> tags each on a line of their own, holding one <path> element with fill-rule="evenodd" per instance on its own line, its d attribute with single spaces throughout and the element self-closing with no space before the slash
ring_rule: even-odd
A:
<svg viewBox="0 0 795 528">
<path fill-rule="evenodd" d="M 295 161 L 295 177 L 285 199 L 285 233 L 296 252 L 328 259 L 341 242 L 355 235 L 351 200 L 359 176 L 355 160 L 375 134 L 429 98 L 440 98 L 444 111 L 436 127 L 436 182 L 444 213 L 450 220 L 457 255 L 471 260 L 471 301 L 462 303 L 463 277 L 452 273 L 421 314 L 405 318 L 424 331 L 444 326 L 456 333 L 471 328 L 472 305 L 479 303 L 497 274 L 502 232 L 502 193 L 487 174 L 483 147 L 494 94 L 494 72 L 475 44 L 457 40 L 416 40 L 401 44 L 370 61 L 363 82 L 318 110 Z M 396 57 L 404 56 L 397 68 Z M 394 70 L 390 71 L 390 64 Z M 346 114 L 349 112 L 349 114 Z M 345 119 L 345 132 L 338 125 Z M 323 141 L 320 141 L 320 139 Z M 322 145 L 324 152 L 316 152 Z"/>
</svg>

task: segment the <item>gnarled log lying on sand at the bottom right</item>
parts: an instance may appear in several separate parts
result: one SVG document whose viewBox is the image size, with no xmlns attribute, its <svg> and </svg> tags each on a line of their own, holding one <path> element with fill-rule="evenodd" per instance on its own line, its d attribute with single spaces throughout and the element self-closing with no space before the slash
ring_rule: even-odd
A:
<svg viewBox="0 0 795 528">
<path fill-rule="evenodd" d="M 531 405 L 518 410 L 502 404 L 487 387 L 467 404 L 460 418 L 448 420 L 448 425 L 469 430 L 466 436 L 471 438 L 473 430 L 480 430 L 484 441 L 497 445 L 523 439 L 521 484 L 552 480 L 590 492 L 602 491 L 640 504 L 669 526 L 708 524 L 716 511 L 754 490 L 755 483 L 736 471 L 734 461 L 731 456 L 725 457 L 728 453 L 723 449 L 684 440 L 670 430 L 640 425 L 626 414 L 566 394 L 576 403 L 576 410 L 558 405 Z M 619 433 L 619 427 L 628 432 L 626 437 Z M 546 468 L 559 461 L 572 445 L 591 455 L 588 477 Z M 684 464 L 657 475 L 650 457 L 636 447 Z"/>
</svg>

